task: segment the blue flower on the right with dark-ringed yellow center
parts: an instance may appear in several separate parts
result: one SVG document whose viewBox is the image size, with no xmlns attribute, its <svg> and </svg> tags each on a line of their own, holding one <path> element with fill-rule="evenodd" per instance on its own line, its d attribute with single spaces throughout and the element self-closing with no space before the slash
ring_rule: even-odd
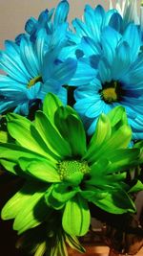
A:
<svg viewBox="0 0 143 256">
<path fill-rule="evenodd" d="M 133 139 L 143 139 L 143 54 L 140 53 L 140 43 L 140 35 L 133 24 L 123 35 L 111 27 L 103 30 L 101 57 L 96 62 L 97 76 L 89 84 L 82 85 L 81 82 L 74 93 L 74 107 L 83 117 L 89 134 L 94 131 L 102 112 L 108 113 L 114 106 L 123 105 L 133 128 Z"/>
</svg>

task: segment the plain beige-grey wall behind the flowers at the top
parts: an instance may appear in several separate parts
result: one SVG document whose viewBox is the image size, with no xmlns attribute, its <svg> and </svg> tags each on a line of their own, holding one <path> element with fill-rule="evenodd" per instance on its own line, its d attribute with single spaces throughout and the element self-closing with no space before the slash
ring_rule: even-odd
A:
<svg viewBox="0 0 143 256">
<path fill-rule="evenodd" d="M 0 48 L 3 48 L 5 39 L 24 32 L 24 25 L 31 16 L 37 17 L 39 12 L 55 7 L 58 0 L 0 0 Z M 107 8 L 108 0 L 69 0 L 71 11 L 69 20 L 81 17 L 85 4 L 94 7 L 102 4 Z"/>
</svg>

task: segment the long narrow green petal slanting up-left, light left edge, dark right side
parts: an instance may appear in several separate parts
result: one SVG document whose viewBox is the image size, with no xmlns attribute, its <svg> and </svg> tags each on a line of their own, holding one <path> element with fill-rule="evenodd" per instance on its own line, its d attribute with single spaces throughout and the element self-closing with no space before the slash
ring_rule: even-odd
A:
<svg viewBox="0 0 143 256">
<path fill-rule="evenodd" d="M 60 157 L 72 155 L 69 143 L 57 132 L 47 116 L 41 111 L 36 112 L 34 125 L 47 147 L 53 153 Z"/>
</svg>

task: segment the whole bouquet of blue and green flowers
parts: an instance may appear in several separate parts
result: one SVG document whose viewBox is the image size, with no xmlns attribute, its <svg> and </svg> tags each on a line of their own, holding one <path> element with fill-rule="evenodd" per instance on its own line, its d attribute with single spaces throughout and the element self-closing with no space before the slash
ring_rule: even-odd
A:
<svg viewBox="0 0 143 256">
<path fill-rule="evenodd" d="M 86 5 L 69 26 L 63 0 L 0 52 L 1 183 L 21 178 L 1 218 L 14 220 L 18 246 L 35 256 L 67 256 L 67 245 L 84 253 L 92 218 L 106 224 L 114 251 L 143 244 L 134 219 L 143 190 L 142 7 L 139 16 L 136 1 L 110 4 L 108 12 Z"/>
</svg>

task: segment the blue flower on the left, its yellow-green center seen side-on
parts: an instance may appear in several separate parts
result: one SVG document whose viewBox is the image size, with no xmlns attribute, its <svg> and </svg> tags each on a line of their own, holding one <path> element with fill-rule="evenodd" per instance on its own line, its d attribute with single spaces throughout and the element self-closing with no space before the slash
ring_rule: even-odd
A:
<svg viewBox="0 0 143 256">
<path fill-rule="evenodd" d="M 20 45 L 6 41 L 6 50 L 0 53 L 0 67 L 6 75 L 0 76 L 0 113 L 13 109 L 29 114 L 36 100 L 43 101 L 52 92 L 67 103 L 67 90 L 62 85 L 71 80 L 76 70 L 76 59 L 60 59 L 66 46 L 67 25 L 47 36 L 45 29 L 38 32 L 35 42 L 23 36 Z"/>
</svg>

